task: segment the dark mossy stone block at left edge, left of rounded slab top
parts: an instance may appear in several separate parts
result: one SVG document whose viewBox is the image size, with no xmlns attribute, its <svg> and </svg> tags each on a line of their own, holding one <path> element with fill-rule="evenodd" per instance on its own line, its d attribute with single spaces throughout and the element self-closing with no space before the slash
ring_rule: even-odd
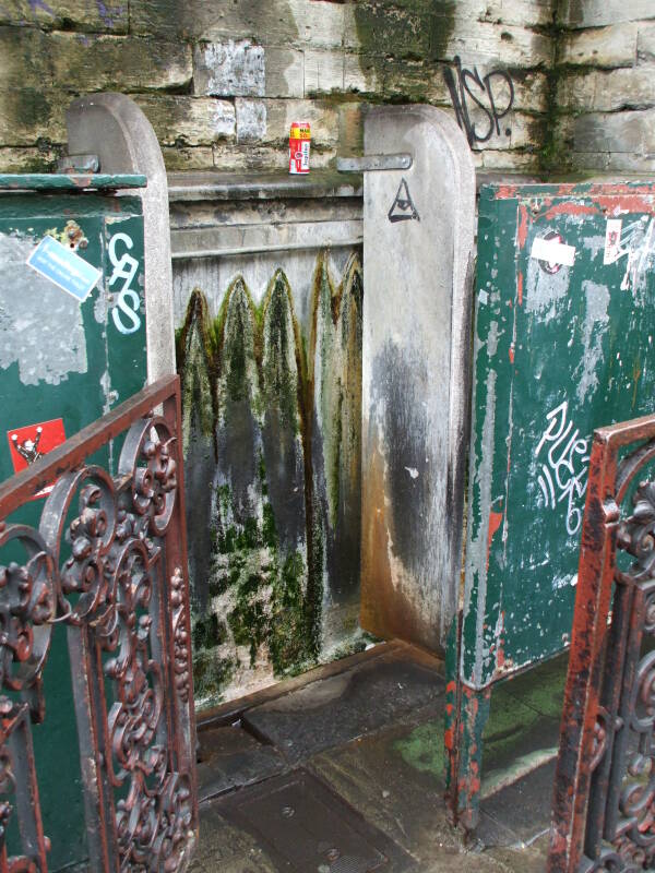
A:
<svg viewBox="0 0 655 873">
<path fill-rule="evenodd" d="M 58 91 L 22 88 L 0 92 L 0 143 L 66 143 L 64 112 L 70 100 Z"/>
</svg>

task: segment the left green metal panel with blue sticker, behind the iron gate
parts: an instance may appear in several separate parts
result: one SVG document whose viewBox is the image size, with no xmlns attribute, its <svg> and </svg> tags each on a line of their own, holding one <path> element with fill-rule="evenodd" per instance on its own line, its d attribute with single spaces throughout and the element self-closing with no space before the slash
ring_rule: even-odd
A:
<svg viewBox="0 0 655 873">
<path fill-rule="evenodd" d="M 84 302 L 26 264 L 46 235 L 100 271 Z M 0 195 L 0 480 L 14 473 L 12 433 L 24 444 L 36 424 L 61 419 L 59 438 L 61 427 L 71 436 L 143 387 L 143 283 L 139 199 Z M 43 498 L 25 505 L 11 521 L 36 525 L 41 504 Z M 58 626 L 45 671 L 46 721 L 33 727 L 50 870 L 86 857 L 70 670 L 66 631 Z"/>
</svg>

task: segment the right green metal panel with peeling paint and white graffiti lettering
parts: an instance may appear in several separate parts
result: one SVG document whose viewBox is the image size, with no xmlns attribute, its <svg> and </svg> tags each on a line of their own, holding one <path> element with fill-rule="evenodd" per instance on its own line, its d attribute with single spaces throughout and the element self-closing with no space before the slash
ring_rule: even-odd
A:
<svg viewBox="0 0 655 873">
<path fill-rule="evenodd" d="M 592 432 L 655 410 L 654 214 L 652 183 L 481 190 L 461 661 L 473 687 L 569 642 Z"/>
</svg>

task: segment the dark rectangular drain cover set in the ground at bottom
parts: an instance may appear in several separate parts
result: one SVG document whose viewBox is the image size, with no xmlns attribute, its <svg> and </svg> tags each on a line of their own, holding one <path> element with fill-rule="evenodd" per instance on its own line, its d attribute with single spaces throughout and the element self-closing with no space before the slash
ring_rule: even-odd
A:
<svg viewBox="0 0 655 873">
<path fill-rule="evenodd" d="M 410 859 L 306 770 L 222 800 L 219 813 L 250 832 L 281 871 L 403 873 Z"/>
</svg>

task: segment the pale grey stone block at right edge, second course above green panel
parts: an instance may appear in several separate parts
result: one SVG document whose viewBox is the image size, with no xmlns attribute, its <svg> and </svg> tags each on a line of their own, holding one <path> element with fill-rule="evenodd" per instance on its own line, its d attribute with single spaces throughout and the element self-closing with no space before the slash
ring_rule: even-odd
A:
<svg viewBox="0 0 655 873">
<path fill-rule="evenodd" d="M 655 109 L 592 112 L 573 123 L 575 152 L 620 152 L 646 156 L 655 142 Z"/>
</svg>

